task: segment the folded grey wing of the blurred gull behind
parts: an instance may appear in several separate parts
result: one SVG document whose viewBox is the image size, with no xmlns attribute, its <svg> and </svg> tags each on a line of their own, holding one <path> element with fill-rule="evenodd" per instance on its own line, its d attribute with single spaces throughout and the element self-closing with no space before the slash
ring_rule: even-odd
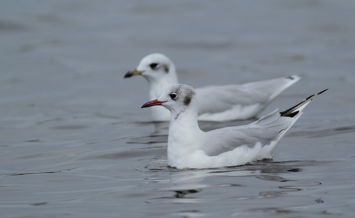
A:
<svg viewBox="0 0 355 218">
<path fill-rule="evenodd" d="M 242 85 L 207 86 L 197 88 L 198 113 L 217 113 L 234 105 L 260 104 L 266 107 L 282 91 L 300 79 L 298 76 L 263 80 Z"/>
</svg>

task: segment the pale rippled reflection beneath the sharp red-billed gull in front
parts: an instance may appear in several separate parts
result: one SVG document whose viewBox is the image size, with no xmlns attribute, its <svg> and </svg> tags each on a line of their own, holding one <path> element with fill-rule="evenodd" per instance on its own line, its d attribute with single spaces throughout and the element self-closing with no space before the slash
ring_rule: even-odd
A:
<svg viewBox="0 0 355 218">
<path fill-rule="evenodd" d="M 271 160 L 259 161 L 256 163 L 247 164 L 237 167 L 214 168 L 214 169 L 165 169 L 168 175 L 164 175 L 164 183 L 169 184 L 168 188 L 162 188 L 161 191 L 173 192 L 170 195 L 171 199 L 185 199 L 179 200 L 179 203 L 198 203 L 203 201 L 201 195 L 196 195 L 211 186 L 249 186 L 246 185 L 245 177 L 254 177 L 264 181 L 280 182 L 276 187 L 276 191 L 260 191 L 258 195 L 251 196 L 234 196 L 230 199 L 255 199 L 265 197 L 275 197 L 285 195 L 289 192 L 305 190 L 304 186 L 321 185 L 317 181 L 301 181 L 291 180 L 280 174 L 302 172 L 306 166 L 327 164 L 332 161 L 285 161 L 273 162 Z M 236 183 L 223 183 L 230 179 L 221 179 L 222 183 L 211 184 L 211 180 L 206 180 L 209 177 L 237 177 Z M 244 178 L 244 179 L 243 179 Z M 162 181 L 160 177 L 149 178 L 150 180 Z M 216 180 L 214 180 L 216 181 Z M 240 183 L 238 183 L 238 181 Z M 269 186 L 268 186 L 269 188 Z M 159 189 L 160 190 L 160 189 Z M 166 192 L 165 192 L 166 193 Z M 241 192 L 242 193 L 242 192 Z M 195 196 L 196 195 L 196 196 Z M 238 195 L 238 192 L 236 192 Z M 164 197 L 166 199 L 166 197 Z"/>
</svg>

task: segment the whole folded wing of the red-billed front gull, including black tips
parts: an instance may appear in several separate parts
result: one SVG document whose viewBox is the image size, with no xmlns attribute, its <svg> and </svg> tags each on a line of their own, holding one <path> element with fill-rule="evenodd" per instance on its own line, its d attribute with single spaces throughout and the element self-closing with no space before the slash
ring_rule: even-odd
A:
<svg viewBox="0 0 355 218">
<path fill-rule="evenodd" d="M 300 118 L 307 104 L 324 91 L 307 97 L 306 100 L 283 112 L 275 110 L 249 125 L 209 131 L 201 150 L 208 156 L 217 156 L 242 145 L 253 147 L 258 141 L 262 146 L 270 144 L 276 146 L 287 130 Z"/>
</svg>

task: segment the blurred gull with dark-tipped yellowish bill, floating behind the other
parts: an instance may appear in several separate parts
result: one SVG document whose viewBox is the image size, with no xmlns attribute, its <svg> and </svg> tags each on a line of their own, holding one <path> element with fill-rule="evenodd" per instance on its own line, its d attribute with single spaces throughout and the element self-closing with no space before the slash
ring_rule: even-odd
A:
<svg viewBox="0 0 355 218">
<path fill-rule="evenodd" d="M 136 75 L 148 80 L 150 99 L 157 99 L 167 88 L 178 84 L 174 63 L 163 54 L 154 53 L 144 57 L 136 69 L 126 73 L 125 78 Z M 299 79 L 300 77 L 295 75 L 242 85 L 198 88 L 197 119 L 229 121 L 256 117 L 280 93 Z M 154 121 L 170 120 L 170 112 L 163 107 L 152 108 L 152 116 Z"/>
</svg>

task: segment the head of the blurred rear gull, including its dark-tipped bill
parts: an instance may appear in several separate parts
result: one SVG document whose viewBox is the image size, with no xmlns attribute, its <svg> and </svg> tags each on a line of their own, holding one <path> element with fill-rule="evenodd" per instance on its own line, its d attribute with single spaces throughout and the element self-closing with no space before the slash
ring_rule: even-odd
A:
<svg viewBox="0 0 355 218">
<path fill-rule="evenodd" d="M 138 67 L 127 72 L 124 78 L 136 75 L 143 76 L 149 82 L 159 82 L 170 77 L 176 78 L 174 63 L 168 57 L 159 53 L 143 57 Z"/>
</svg>

